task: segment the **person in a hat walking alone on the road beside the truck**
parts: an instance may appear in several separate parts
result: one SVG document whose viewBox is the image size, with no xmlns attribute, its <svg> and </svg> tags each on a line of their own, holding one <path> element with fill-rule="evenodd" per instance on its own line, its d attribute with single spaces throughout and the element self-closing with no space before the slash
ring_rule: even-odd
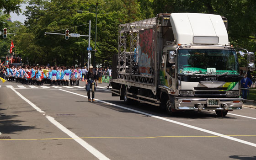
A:
<svg viewBox="0 0 256 160">
<path fill-rule="evenodd" d="M 89 67 L 88 73 L 85 75 L 85 83 L 86 83 L 86 91 L 87 91 L 87 96 L 88 96 L 88 101 L 94 102 L 94 92 L 95 92 L 95 87 L 97 86 L 97 81 L 96 81 L 96 74 L 93 72 L 93 67 Z M 90 88 L 91 88 L 91 96 L 90 96 Z"/>
</svg>

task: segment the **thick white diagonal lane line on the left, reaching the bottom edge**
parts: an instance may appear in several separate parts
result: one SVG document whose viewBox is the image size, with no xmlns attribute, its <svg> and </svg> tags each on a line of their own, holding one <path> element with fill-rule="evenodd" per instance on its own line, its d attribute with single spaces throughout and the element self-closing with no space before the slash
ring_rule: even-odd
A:
<svg viewBox="0 0 256 160">
<path fill-rule="evenodd" d="M 110 160 L 105 155 L 103 155 L 100 151 L 92 147 L 90 144 L 85 142 L 83 139 L 80 139 L 75 133 L 71 132 L 69 129 L 65 128 L 62 124 L 57 122 L 53 117 L 46 115 L 45 112 L 43 112 L 39 107 L 37 107 L 34 103 L 29 101 L 27 98 L 22 96 L 19 92 L 17 92 L 13 87 L 10 87 L 12 91 L 14 91 L 18 96 L 20 96 L 24 101 L 26 101 L 28 104 L 30 104 L 34 109 L 36 109 L 38 112 L 43 113 L 43 115 L 56 127 L 58 127 L 61 131 L 69 135 L 72 139 L 74 139 L 77 143 L 79 143 L 81 146 L 83 146 L 85 149 L 87 149 L 92 155 L 94 155 L 99 160 Z M 61 89 L 59 89 L 61 90 Z"/>
</svg>

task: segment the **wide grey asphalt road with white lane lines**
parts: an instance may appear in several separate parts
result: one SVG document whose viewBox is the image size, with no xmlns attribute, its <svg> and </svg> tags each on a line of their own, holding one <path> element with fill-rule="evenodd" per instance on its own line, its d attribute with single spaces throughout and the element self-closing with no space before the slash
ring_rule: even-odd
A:
<svg viewBox="0 0 256 160">
<path fill-rule="evenodd" d="M 0 82 L 0 160 L 256 160 L 256 109 L 169 116 L 83 86 Z"/>
</svg>

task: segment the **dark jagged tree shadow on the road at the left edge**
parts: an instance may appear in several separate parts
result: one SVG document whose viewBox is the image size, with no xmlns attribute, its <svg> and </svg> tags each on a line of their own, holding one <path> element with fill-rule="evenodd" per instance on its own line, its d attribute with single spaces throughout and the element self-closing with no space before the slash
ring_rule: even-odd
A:
<svg viewBox="0 0 256 160">
<path fill-rule="evenodd" d="M 18 117 L 18 115 L 5 115 L 0 113 L 0 132 L 2 134 L 14 133 L 35 128 L 34 126 L 24 126 L 19 124 L 25 121 L 15 120 L 16 117 Z"/>
</svg>

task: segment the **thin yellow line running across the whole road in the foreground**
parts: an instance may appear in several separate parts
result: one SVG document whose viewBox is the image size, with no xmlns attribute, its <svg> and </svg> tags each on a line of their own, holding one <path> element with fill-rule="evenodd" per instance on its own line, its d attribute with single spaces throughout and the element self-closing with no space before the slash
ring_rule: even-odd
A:
<svg viewBox="0 0 256 160">
<path fill-rule="evenodd" d="M 226 135 L 226 136 L 240 136 L 240 137 L 256 137 L 256 135 Z M 80 137 L 80 139 L 155 139 L 155 138 L 212 138 L 220 136 L 157 136 L 157 137 Z M 73 138 L 50 138 L 50 139 L 0 139 L 6 140 L 57 140 L 57 139 L 73 139 Z"/>
</svg>

